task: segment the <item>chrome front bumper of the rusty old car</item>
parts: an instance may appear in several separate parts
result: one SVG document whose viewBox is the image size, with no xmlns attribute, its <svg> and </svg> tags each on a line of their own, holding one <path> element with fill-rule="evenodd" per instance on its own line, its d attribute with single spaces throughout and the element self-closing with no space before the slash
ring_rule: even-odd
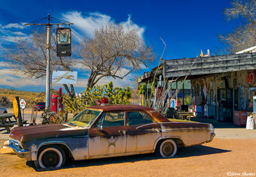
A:
<svg viewBox="0 0 256 177">
<path fill-rule="evenodd" d="M 9 147 L 15 151 L 15 153 L 18 155 L 20 158 L 26 158 L 26 160 L 31 160 L 31 152 L 29 149 L 24 149 L 21 146 L 21 143 L 19 141 L 15 141 L 13 139 L 9 140 Z"/>
</svg>

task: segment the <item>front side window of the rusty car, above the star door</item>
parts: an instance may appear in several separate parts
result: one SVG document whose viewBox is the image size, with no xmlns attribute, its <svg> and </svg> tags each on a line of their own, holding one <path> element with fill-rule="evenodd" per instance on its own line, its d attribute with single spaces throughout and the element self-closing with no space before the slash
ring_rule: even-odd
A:
<svg viewBox="0 0 256 177">
<path fill-rule="evenodd" d="M 103 120 L 103 122 L 102 122 Z M 124 126 L 124 112 L 106 112 L 99 119 L 95 127 L 118 127 Z"/>
</svg>

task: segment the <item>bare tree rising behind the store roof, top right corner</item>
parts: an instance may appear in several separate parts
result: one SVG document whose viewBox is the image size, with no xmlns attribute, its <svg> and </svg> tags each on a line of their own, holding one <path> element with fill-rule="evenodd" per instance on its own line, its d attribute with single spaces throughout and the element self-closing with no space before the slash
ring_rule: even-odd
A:
<svg viewBox="0 0 256 177">
<path fill-rule="evenodd" d="M 224 15 L 229 20 L 241 20 L 241 26 L 227 35 L 220 35 L 230 53 L 247 49 L 256 45 L 256 1 L 234 0 L 231 7 L 225 9 Z"/>
</svg>

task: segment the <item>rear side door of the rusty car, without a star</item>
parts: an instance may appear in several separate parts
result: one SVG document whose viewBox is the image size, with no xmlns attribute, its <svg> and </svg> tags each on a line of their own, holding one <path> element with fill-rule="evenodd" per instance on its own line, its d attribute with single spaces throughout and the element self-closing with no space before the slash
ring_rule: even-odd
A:
<svg viewBox="0 0 256 177">
<path fill-rule="evenodd" d="M 154 143 L 161 137 L 160 130 L 160 123 L 154 123 L 146 112 L 128 111 L 126 152 L 154 150 Z"/>
</svg>

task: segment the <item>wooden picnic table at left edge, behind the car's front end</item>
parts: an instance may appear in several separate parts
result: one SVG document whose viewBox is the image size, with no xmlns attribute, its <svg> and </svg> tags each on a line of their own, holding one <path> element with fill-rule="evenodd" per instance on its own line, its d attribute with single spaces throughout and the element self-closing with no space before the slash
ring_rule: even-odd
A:
<svg viewBox="0 0 256 177">
<path fill-rule="evenodd" d="M 12 120 L 11 118 L 15 119 Z M 24 124 L 27 123 L 26 120 L 22 121 Z M 13 125 L 17 125 L 17 118 L 15 118 L 13 113 L 4 113 L 0 114 L 0 127 L 4 127 L 8 133 L 10 133 L 10 128 L 13 127 Z"/>
</svg>

